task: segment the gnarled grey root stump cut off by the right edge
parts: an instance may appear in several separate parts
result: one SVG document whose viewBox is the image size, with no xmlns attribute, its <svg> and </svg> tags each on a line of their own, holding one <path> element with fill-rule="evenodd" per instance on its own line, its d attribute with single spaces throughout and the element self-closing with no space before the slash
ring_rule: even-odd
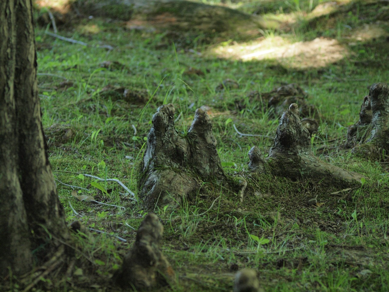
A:
<svg viewBox="0 0 389 292">
<path fill-rule="evenodd" d="M 371 160 L 389 154 L 389 86 L 374 83 L 364 97 L 359 121 L 349 127 L 347 146 Z"/>
</svg>

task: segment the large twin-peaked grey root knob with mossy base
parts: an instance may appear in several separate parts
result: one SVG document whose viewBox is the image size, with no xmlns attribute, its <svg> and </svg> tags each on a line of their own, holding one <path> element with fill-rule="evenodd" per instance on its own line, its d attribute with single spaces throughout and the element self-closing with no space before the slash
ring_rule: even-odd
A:
<svg viewBox="0 0 389 292">
<path fill-rule="evenodd" d="M 177 207 L 200 189 L 200 181 L 226 178 L 207 113 L 197 109 L 187 135 L 180 135 L 174 128 L 174 111 L 173 104 L 166 104 L 152 118 L 138 179 L 145 209 Z"/>
</svg>

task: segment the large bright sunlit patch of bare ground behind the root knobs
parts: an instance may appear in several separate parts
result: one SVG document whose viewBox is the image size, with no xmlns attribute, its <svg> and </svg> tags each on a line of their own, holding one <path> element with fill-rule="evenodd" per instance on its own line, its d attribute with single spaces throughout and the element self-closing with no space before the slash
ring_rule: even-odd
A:
<svg viewBox="0 0 389 292">
<path fill-rule="evenodd" d="M 335 63 L 348 55 L 348 50 L 334 39 L 319 37 L 292 43 L 282 37 L 270 37 L 251 44 L 219 46 L 214 48 L 213 53 L 219 57 L 243 61 L 274 59 L 287 67 L 303 69 Z"/>
</svg>

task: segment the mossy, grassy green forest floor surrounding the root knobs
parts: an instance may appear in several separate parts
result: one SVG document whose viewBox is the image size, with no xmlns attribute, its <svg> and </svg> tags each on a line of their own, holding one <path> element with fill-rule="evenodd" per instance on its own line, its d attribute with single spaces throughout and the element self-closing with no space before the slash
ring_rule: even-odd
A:
<svg viewBox="0 0 389 292">
<path fill-rule="evenodd" d="M 366 181 L 340 189 L 268 176 L 242 202 L 205 181 L 179 208 L 156 208 L 162 251 L 177 275 L 171 290 L 231 291 L 235 273 L 252 268 L 263 291 L 388 291 L 389 160 L 355 157 L 344 144 L 371 84 L 389 79 L 389 3 L 228 3 L 279 28 L 205 42 L 101 17 L 58 25 L 59 35 L 82 45 L 37 26 L 42 120 L 58 195 L 67 222 L 79 220 L 92 234 L 74 234 L 81 264 L 67 291 L 116 290 L 110 278 L 147 213 L 137 175 L 159 106 L 174 104 L 182 135 L 197 108 L 207 111 L 225 171 L 238 176 L 252 146 L 268 152 L 279 124 L 279 114 L 252 96 L 291 83 L 315 109 L 315 155 Z"/>
</svg>

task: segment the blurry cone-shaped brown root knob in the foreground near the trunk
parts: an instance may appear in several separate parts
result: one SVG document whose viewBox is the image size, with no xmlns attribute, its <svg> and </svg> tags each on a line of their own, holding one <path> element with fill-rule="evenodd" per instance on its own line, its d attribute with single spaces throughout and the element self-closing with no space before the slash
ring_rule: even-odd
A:
<svg viewBox="0 0 389 292">
<path fill-rule="evenodd" d="M 151 290 L 170 285 L 175 273 L 161 252 L 159 241 L 163 225 L 157 215 L 149 213 L 137 231 L 135 244 L 114 274 L 114 281 L 123 289 Z"/>
</svg>

